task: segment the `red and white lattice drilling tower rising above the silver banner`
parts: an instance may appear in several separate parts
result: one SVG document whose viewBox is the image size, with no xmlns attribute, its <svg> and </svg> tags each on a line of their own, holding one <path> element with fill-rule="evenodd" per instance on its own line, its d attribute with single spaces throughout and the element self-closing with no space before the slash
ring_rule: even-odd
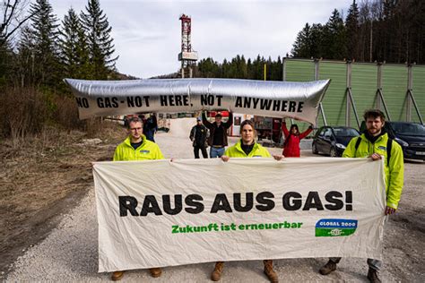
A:
<svg viewBox="0 0 425 283">
<path fill-rule="evenodd" d="M 178 61 L 181 61 L 181 77 L 185 78 L 188 71 L 188 77 L 192 78 L 192 64 L 198 59 L 196 51 L 192 50 L 191 31 L 192 19 L 186 14 L 182 14 L 179 18 L 181 21 L 181 52 L 178 54 Z"/>
</svg>

